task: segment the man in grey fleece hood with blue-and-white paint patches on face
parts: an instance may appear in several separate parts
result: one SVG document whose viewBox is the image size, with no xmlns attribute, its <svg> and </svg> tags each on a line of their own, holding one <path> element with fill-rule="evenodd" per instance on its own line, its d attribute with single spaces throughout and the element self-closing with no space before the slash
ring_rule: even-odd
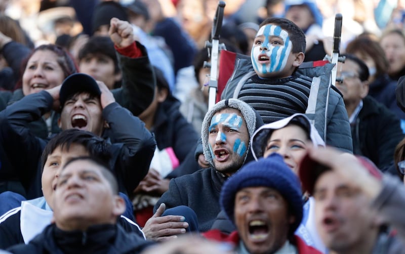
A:
<svg viewBox="0 0 405 254">
<path fill-rule="evenodd" d="M 169 190 L 154 207 L 155 215 L 142 229 L 146 237 L 160 240 L 185 233 L 190 226 L 184 225 L 182 216 L 161 216 L 171 214 L 169 211 L 163 214 L 165 205 L 167 208 L 188 206 L 197 216 L 198 230 L 211 229 L 221 210 L 221 187 L 249 160 L 250 137 L 262 124 L 255 110 L 237 99 L 220 101 L 210 109 L 203 121 L 201 139 L 211 167 L 170 181 Z"/>
</svg>

